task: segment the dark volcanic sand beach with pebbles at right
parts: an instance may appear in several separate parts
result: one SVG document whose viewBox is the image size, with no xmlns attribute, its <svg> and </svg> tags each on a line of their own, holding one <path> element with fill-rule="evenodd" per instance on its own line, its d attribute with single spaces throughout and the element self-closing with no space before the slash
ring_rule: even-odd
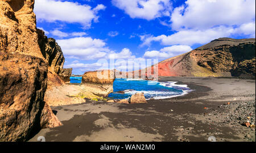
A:
<svg viewBox="0 0 256 153">
<path fill-rule="evenodd" d="M 147 104 L 104 101 L 52 107 L 63 123 L 42 129 L 30 141 L 254 141 L 255 79 L 162 77 L 188 84 L 192 92 Z M 230 102 L 229 105 L 226 105 Z"/>
</svg>

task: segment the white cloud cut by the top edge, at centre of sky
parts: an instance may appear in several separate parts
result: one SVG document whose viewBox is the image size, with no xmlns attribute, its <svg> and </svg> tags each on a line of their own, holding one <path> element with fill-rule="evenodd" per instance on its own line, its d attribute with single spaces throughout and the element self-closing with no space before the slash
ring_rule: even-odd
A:
<svg viewBox="0 0 256 153">
<path fill-rule="evenodd" d="M 131 18 L 152 20 L 160 16 L 170 15 L 169 0 L 112 0 L 112 4 L 124 10 Z"/>
</svg>

